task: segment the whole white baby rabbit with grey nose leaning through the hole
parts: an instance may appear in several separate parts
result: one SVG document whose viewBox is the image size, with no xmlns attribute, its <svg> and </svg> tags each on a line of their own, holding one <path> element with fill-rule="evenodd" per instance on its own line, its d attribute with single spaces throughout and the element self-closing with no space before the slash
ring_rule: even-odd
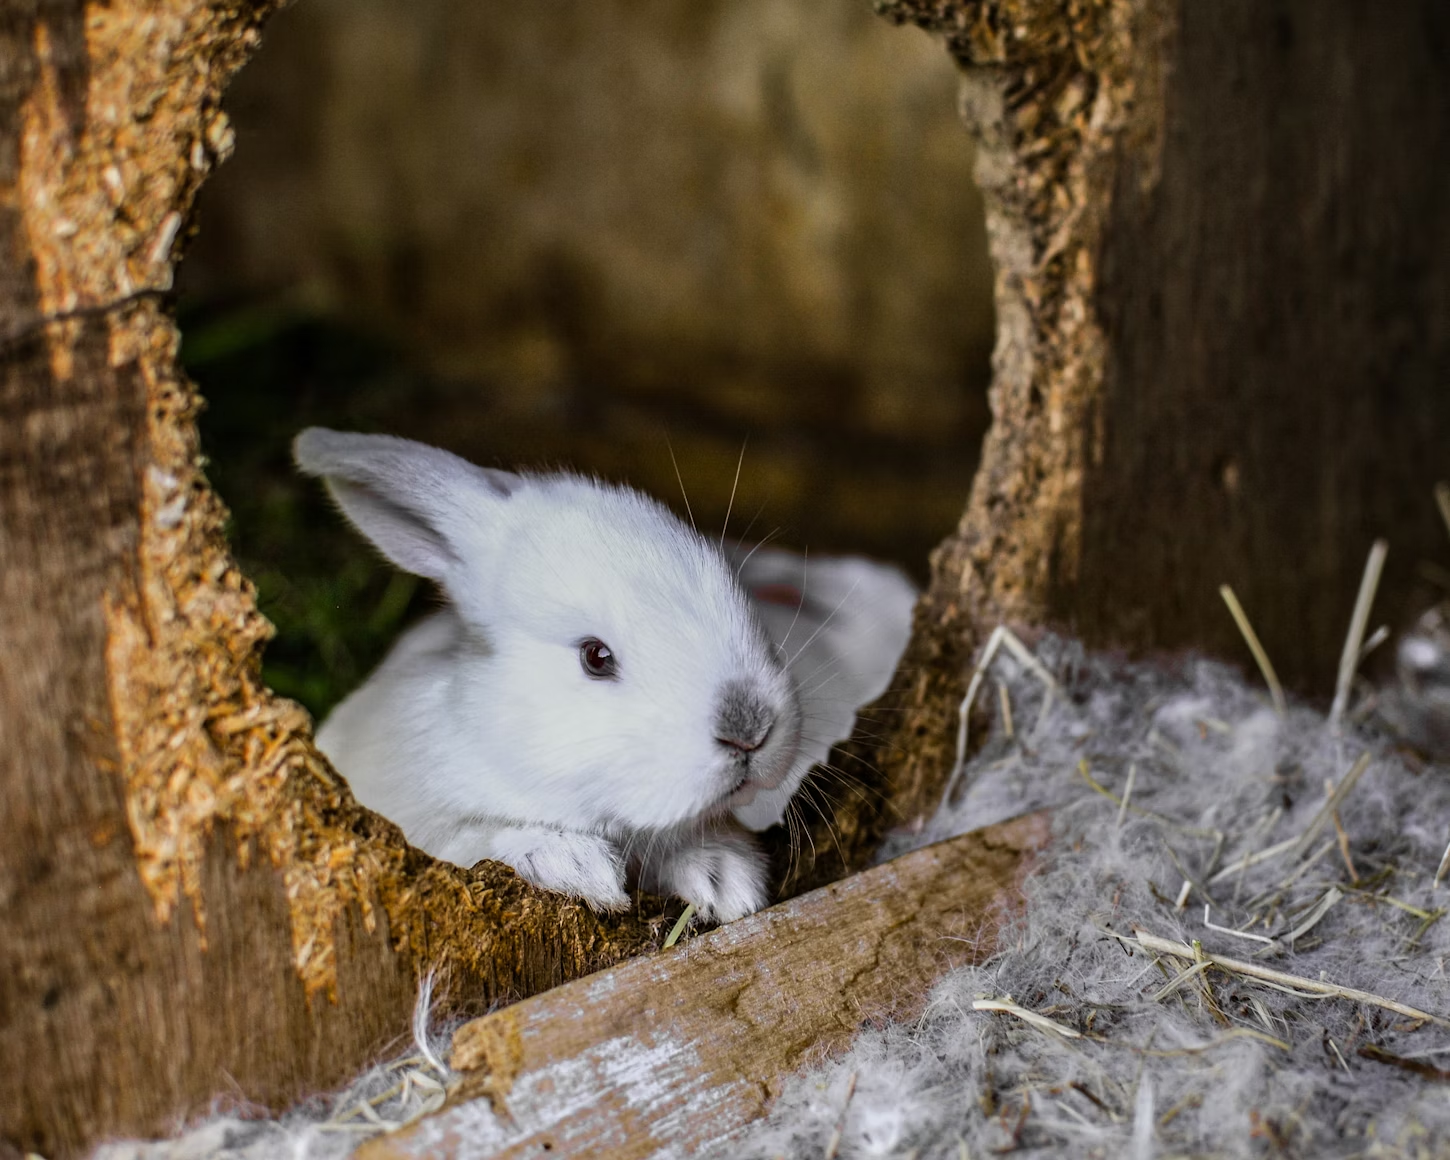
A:
<svg viewBox="0 0 1450 1160">
<path fill-rule="evenodd" d="M 318 732 L 360 802 L 435 857 L 597 909 L 626 905 L 631 873 L 706 918 L 764 905 L 766 860 L 729 813 L 779 821 L 882 692 L 905 577 L 732 550 L 753 602 L 713 542 L 629 489 L 320 428 L 296 458 L 450 599 Z"/>
</svg>

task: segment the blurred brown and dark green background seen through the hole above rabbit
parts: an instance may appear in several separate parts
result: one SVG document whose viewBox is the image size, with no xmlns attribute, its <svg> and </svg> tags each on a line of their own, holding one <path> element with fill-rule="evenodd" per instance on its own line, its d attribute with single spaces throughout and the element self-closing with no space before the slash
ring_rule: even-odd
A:
<svg viewBox="0 0 1450 1160">
<path fill-rule="evenodd" d="M 325 709 L 425 599 L 291 477 L 310 422 L 682 508 L 673 447 L 712 528 L 745 447 L 737 534 L 925 577 L 993 341 L 925 35 L 864 0 L 297 0 L 229 112 L 183 357 L 283 692 Z"/>
</svg>

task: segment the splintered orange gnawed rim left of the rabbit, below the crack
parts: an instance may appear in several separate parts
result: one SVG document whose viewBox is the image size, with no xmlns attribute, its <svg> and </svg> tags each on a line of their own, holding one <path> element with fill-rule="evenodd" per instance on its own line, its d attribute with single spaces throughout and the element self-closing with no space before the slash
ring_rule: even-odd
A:
<svg viewBox="0 0 1450 1160">
<path fill-rule="evenodd" d="M 128 319 L 128 349 L 171 357 L 175 332 L 151 303 Z M 419 966 L 441 957 L 478 980 L 538 976 L 525 960 L 552 957 L 545 941 L 560 942 L 574 972 L 615 961 L 626 945 L 654 945 L 642 919 L 613 924 L 615 934 L 581 906 L 535 896 L 512 871 L 474 874 L 422 858 L 352 802 L 312 747 L 306 710 L 261 682 L 271 626 L 226 552 L 226 512 L 200 471 L 199 400 L 161 370 L 149 389 L 139 587 L 106 605 L 106 663 L 126 819 L 157 918 L 170 922 L 186 903 L 206 937 L 203 870 L 212 835 L 225 828 L 238 867 L 261 860 L 280 874 L 309 999 L 336 995 L 347 916 L 374 931 L 378 903 L 394 953 Z M 187 500 L 180 509 L 178 496 Z M 542 922 L 547 940 L 531 947 L 505 937 L 521 921 Z M 451 929 L 470 934 L 448 938 Z"/>
</svg>

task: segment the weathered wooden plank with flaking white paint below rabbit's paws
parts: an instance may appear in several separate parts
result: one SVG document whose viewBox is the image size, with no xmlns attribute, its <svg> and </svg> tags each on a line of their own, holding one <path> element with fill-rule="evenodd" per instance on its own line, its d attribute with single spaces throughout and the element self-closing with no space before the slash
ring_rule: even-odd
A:
<svg viewBox="0 0 1450 1160">
<path fill-rule="evenodd" d="M 450 1103 L 358 1156 L 695 1156 L 992 954 L 1047 834 L 1045 813 L 979 829 L 474 1019 Z"/>
</svg>

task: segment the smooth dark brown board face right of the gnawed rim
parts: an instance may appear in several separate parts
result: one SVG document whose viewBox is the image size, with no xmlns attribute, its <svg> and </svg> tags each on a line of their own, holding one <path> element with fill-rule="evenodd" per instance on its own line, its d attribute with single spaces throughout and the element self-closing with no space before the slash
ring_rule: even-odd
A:
<svg viewBox="0 0 1450 1160">
<path fill-rule="evenodd" d="M 1183 4 L 1161 157 L 1124 152 L 1098 299 L 1109 355 L 1083 552 L 1088 639 L 1244 657 L 1325 696 L 1370 544 L 1376 615 L 1425 605 L 1450 476 L 1444 4 Z M 1151 170 L 1151 171 L 1150 171 Z"/>
</svg>

